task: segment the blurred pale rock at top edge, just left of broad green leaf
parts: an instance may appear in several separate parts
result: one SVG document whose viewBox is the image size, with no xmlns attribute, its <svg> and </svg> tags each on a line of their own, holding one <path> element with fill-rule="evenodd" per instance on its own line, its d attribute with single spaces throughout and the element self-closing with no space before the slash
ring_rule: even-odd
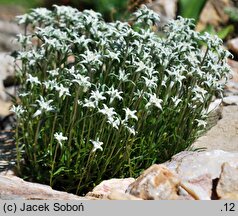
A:
<svg viewBox="0 0 238 216">
<path fill-rule="evenodd" d="M 175 19 L 178 0 L 154 0 L 147 4 L 148 8 L 160 14 L 162 24 Z"/>
</svg>

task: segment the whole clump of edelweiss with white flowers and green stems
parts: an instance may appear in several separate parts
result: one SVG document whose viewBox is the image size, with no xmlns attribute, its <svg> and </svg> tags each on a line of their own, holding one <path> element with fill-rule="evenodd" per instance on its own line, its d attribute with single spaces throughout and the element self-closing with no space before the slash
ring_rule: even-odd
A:
<svg viewBox="0 0 238 216">
<path fill-rule="evenodd" d="M 159 37 L 146 7 L 132 25 L 64 6 L 17 19 L 18 171 L 54 188 L 82 194 L 186 149 L 229 72 L 220 39 L 182 17 Z"/>
</svg>

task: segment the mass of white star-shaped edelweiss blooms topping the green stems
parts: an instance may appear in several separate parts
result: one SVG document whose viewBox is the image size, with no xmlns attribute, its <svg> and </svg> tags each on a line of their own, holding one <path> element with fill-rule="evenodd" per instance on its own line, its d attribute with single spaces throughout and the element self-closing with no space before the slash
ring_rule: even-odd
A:
<svg viewBox="0 0 238 216">
<path fill-rule="evenodd" d="M 135 24 L 159 22 L 158 15 L 146 7 L 133 16 Z M 106 23 L 98 13 L 65 6 L 55 6 L 53 11 L 34 9 L 19 16 L 18 22 L 33 27 L 44 23 L 34 34 L 19 36 L 25 49 L 18 58 L 26 70 L 20 73 L 25 81 L 19 95 L 22 103 L 32 105 L 33 119 L 59 112 L 63 119 L 83 119 L 75 121 L 79 122 L 75 127 L 85 128 L 81 122 L 95 118 L 94 132 L 81 133 L 91 136 L 88 142 L 93 151 L 102 150 L 102 142 L 107 140 L 99 141 L 101 131 L 97 130 L 136 136 L 147 119 L 168 118 L 166 112 L 178 114 L 186 109 L 196 113 L 194 125 L 205 126 L 201 113 L 208 107 L 210 95 L 221 90 L 219 81 L 229 72 L 228 53 L 221 41 L 195 32 L 191 20 L 182 17 L 165 27 L 162 38 L 150 28 Z M 38 44 L 29 43 L 29 38 L 37 39 Z M 23 97 L 26 92 L 31 94 Z M 193 112 L 196 108 L 200 111 Z M 23 112 L 20 107 L 12 110 Z M 105 128 L 97 121 L 106 122 Z M 56 133 L 55 139 L 61 143 L 68 138 Z"/>
</svg>

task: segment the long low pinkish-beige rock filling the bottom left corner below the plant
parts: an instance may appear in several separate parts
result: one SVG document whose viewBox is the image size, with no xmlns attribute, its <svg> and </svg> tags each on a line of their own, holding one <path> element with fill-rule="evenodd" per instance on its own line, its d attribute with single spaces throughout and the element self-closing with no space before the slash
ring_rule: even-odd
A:
<svg viewBox="0 0 238 216">
<path fill-rule="evenodd" d="M 51 187 L 26 182 L 12 174 L 0 175 L 0 199 L 23 199 L 23 200 L 86 200 L 66 192 L 53 190 Z"/>
</svg>

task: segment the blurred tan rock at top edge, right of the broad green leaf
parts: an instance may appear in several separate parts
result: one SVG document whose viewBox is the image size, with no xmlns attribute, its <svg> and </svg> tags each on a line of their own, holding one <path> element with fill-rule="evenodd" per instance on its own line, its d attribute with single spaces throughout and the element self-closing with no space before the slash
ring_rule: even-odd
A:
<svg viewBox="0 0 238 216">
<path fill-rule="evenodd" d="M 219 26 L 229 20 L 224 8 L 231 5 L 229 0 L 208 0 L 200 14 L 197 30 L 202 31 L 207 25 Z"/>
</svg>

